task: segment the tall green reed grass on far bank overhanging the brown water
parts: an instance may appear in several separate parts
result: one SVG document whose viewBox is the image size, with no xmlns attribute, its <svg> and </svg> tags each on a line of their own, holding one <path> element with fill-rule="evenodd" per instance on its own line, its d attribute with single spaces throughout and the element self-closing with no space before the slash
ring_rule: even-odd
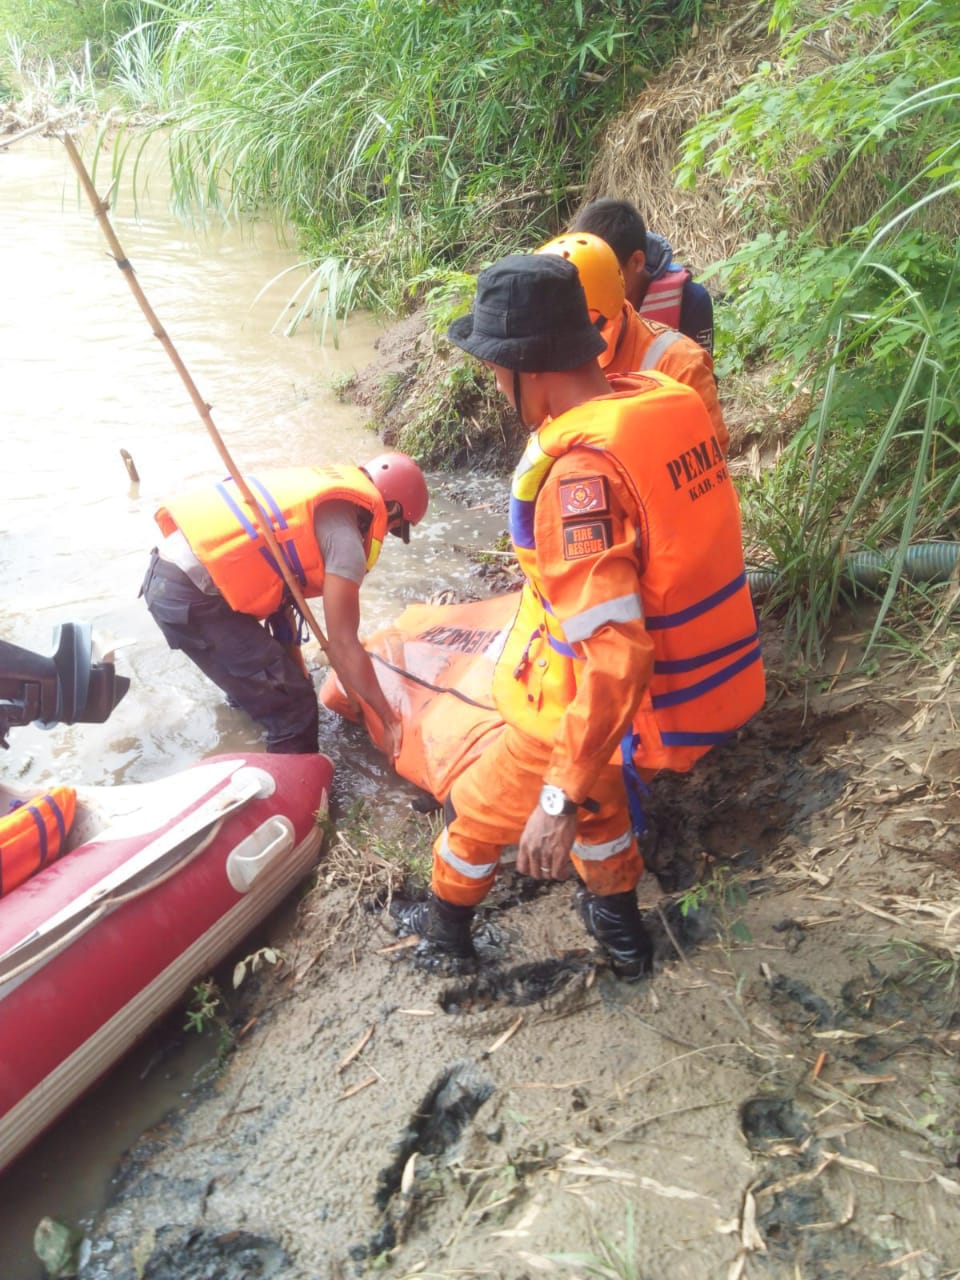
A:
<svg viewBox="0 0 960 1280">
<path fill-rule="evenodd" d="M 192 212 L 270 211 L 357 303 L 552 233 L 700 0 L 143 0 Z M 329 274 L 329 273 L 328 273 Z"/>
</svg>

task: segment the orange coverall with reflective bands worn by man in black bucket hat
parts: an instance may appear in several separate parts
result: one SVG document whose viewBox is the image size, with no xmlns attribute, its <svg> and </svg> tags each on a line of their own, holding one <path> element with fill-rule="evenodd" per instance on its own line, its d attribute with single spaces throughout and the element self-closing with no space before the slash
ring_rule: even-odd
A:
<svg viewBox="0 0 960 1280">
<path fill-rule="evenodd" d="M 559 485 L 572 477 L 602 477 L 611 498 L 609 545 L 582 559 L 564 558 Z M 637 596 L 637 617 L 602 626 L 573 645 L 584 658 L 579 689 L 566 708 L 544 708 L 538 717 L 557 724 L 549 736 L 517 728 L 517 721 L 531 727 L 529 714 L 497 699 L 507 727 L 453 783 L 447 827 L 434 845 L 433 890 L 461 906 L 485 897 L 503 847 L 520 838 L 544 782 L 562 787 L 571 800 L 589 797 L 599 805 L 596 813 L 577 810 L 571 854 L 593 893 L 626 892 L 643 873 L 621 767 L 611 760 L 650 678 L 653 643 L 639 609 L 635 516 L 614 465 L 594 449 L 564 453 L 538 494 L 535 532 L 534 585 L 561 622 L 631 595 Z M 516 696 L 524 696 L 522 686 Z"/>
</svg>

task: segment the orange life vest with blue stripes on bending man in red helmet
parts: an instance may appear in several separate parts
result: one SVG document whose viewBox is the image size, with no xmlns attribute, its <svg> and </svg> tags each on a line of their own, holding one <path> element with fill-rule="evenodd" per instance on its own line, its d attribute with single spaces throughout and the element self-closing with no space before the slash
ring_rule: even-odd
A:
<svg viewBox="0 0 960 1280">
<path fill-rule="evenodd" d="M 324 562 L 314 532 L 314 513 L 323 502 L 340 498 L 370 512 L 364 550 L 367 570 L 376 563 L 387 534 L 387 507 L 360 467 L 284 467 L 250 476 L 247 483 L 260 518 L 269 521 L 306 596 L 323 595 L 324 590 Z M 183 532 L 230 608 L 255 618 L 266 618 L 279 608 L 283 576 L 233 480 L 183 494 L 160 507 L 154 518 L 164 534 Z"/>
</svg>

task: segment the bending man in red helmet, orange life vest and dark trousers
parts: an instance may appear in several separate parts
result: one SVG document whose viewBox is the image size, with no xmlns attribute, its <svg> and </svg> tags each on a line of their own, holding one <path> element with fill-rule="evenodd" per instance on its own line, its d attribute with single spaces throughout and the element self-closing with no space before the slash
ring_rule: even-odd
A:
<svg viewBox="0 0 960 1280">
<path fill-rule="evenodd" d="M 360 585 L 387 534 L 407 543 L 426 513 L 422 471 L 394 452 L 362 467 L 264 472 L 248 485 L 303 595 L 323 596 L 330 664 L 380 719 L 394 759 L 402 727 L 360 644 Z M 265 727 L 268 751 L 317 751 L 319 704 L 296 649 L 305 628 L 292 625 L 289 590 L 236 483 L 183 494 L 155 518 L 164 538 L 141 594 L 166 643 Z"/>
</svg>

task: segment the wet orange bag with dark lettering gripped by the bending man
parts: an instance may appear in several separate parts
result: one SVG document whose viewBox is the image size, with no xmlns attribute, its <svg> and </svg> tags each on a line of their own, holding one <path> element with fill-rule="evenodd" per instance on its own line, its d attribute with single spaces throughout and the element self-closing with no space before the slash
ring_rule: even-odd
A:
<svg viewBox="0 0 960 1280">
<path fill-rule="evenodd" d="M 364 639 L 387 701 L 403 723 L 401 777 L 444 800 L 453 780 L 503 728 L 493 704 L 493 668 L 520 602 L 518 591 L 466 604 L 410 604 Z M 361 722 L 361 708 L 330 672 L 320 701 Z M 380 728 L 367 728 L 380 744 Z"/>
</svg>

